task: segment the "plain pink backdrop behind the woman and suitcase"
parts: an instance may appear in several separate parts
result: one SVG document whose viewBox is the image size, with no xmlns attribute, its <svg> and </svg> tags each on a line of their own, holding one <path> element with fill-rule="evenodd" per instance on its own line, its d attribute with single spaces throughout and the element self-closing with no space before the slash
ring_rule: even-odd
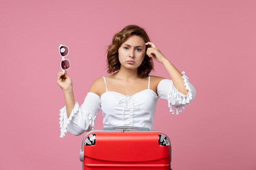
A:
<svg viewBox="0 0 256 170">
<path fill-rule="evenodd" d="M 255 0 L 1 0 L 0 22 L 0 170 L 81 169 L 83 135 L 59 137 L 58 46 L 70 48 L 82 104 L 128 24 L 146 28 L 197 91 L 178 116 L 158 101 L 153 130 L 171 139 L 173 170 L 256 170 Z M 155 70 L 169 78 L 162 64 Z"/>
</svg>

